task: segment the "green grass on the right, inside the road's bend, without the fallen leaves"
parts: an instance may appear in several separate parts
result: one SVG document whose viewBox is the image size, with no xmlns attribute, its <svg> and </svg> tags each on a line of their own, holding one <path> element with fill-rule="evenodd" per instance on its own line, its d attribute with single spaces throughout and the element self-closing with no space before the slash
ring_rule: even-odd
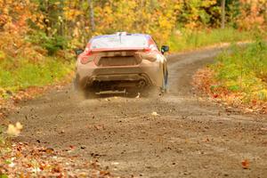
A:
<svg viewBox="0 0 267 178">
<path fill-rule="evenodd" d="M 215 79 L 229 91 L 243 93 L 244 101 L 267 101 L 267 44 L 257 41 L 231 49 L 211 65 Z"/>
</svg>

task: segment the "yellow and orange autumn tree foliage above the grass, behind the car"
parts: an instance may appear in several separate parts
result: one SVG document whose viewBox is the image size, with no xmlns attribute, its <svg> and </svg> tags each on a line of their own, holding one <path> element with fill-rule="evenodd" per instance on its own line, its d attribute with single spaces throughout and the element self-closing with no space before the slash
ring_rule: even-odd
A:
<svg viewBox="0 0 267 178">
<path fill-rule="evenodd" d="M 266 4 L 226 1 L 228 26 L 264 30 Z M 176 28 L 220 27 L 222 12 L 221 0 L 0 0 L 0 9 L 0 49 L 12 56 L 54 54 L 116 31 L 149 33 L 163 44 Z"/>
</svg>

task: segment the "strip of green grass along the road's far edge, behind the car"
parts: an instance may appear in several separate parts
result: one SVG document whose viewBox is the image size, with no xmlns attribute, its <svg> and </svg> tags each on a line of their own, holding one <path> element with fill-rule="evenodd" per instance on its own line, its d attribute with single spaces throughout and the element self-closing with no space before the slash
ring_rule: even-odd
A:
<svg viewBox="0 0 267 178">
<path fill-rule="evenodd" d="M 174 33 L 167 44 L 170 45 L 172 52 L 181 52 L 212 44 L 254 40 L 255 36 L 255 33 L 250 31 L 239 31 L 234 28 L 204 29 L 203 31 L 182 29 Z"/>
</svg>

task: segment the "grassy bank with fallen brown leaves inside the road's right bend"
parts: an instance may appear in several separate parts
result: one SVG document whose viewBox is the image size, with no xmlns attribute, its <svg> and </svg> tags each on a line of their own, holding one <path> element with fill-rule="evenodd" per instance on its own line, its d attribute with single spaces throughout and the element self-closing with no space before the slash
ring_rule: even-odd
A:
<svg viewBox="0 0 267 178">
<path fill-rule="evenodd" d="M 193 85 L 223 103 L 248 112 L 267 113 L 267 43 L 232 45 L 204 69 Z"/>
</svg>

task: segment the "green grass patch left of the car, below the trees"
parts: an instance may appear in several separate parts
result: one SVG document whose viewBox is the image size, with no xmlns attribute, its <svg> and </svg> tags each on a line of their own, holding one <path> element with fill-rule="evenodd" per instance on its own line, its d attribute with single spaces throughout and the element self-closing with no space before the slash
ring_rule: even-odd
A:
<svg viewBox="0 0 267 178">
<path fill-rule="evenodd" d="M 60 81 L 73 69 L 73 64 L 55 57 L 46 57 L 43 61 L 5 57 L 0 59 L 0 68 L 0 88 L 17 92 L 29 86 L 44 86 Z"/>
</svg>

